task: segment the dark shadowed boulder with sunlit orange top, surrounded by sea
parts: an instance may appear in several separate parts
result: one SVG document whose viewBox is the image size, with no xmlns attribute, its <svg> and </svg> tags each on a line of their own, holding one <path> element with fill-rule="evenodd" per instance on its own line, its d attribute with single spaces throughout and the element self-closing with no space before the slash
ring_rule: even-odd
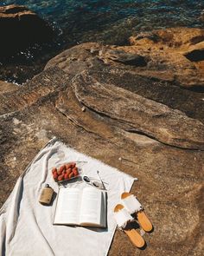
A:
<svg viewBox="0 0 204 256">
<path fill-rule="evenodd" d="M 53 37 L 48 23 L 33 11 L 16 4 L 0 7 L 0 31 L 0 57 L 11 56 L 35 43 L 48 43 Z"/>
</svg>

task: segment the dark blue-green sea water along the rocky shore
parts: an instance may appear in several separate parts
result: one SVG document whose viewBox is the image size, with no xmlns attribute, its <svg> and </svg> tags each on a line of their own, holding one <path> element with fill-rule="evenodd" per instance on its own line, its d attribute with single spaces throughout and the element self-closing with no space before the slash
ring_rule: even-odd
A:
<svg viewBox="0 0 204 256">
<path fill-rule="evenodd" d="M 56 31 L 54 43 L 25 52 L 16 62 L 45 63 L 77 43 L 125 44 L 129 36 L 176 26 L 202 28 L 204 1 L 190 0 L 4 0 L 23 4 L 47 20 Z M 39 60 L 41 56 L 41 60 Z M 1 77 L 0 77 L 1 79 Z"/>
</svg>

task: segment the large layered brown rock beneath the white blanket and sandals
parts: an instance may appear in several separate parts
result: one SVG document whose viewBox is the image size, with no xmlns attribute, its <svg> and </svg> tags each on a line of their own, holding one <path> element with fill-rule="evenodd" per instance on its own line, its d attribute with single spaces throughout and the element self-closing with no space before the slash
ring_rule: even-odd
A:
<svg viewBox="0 0 204 256">
<path fill-rule="evenodd" d="M 147 247 L 140 251 L 117 231 L 109 255 L 202 255 L 204 93 L 186 89 L 175 62 L 153 69 L 152 55 L 143 52 L 136 44 L 81 44 L 0 95 L 1 205 L 29 161 L 57 136 L 138 178 L 131 192 L 154 232 L 144 234 Z"/>
</svg>

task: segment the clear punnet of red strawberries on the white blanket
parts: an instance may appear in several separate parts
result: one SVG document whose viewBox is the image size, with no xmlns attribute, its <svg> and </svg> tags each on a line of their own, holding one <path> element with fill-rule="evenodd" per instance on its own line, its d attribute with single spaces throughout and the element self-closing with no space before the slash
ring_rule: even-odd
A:
<svg viewBox="0 0 204 256">
<path fill-rule="evenodd" d="M 52 174 L 56 182 L 69 181 L 80 176 L 80 169 L 76 167 L 76 163 L 72 161 L 62 164 L 60 167 L 54 167 Z"/>
</svg>

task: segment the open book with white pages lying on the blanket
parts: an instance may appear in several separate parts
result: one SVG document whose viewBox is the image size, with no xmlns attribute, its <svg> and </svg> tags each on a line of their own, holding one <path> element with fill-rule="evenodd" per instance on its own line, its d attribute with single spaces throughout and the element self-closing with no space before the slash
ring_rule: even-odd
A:
<svg viewBox="0 0 204 256">
<path fill-rule="evenodd" d="M 93 187 L 61 187 L 54 224 L 105 227 L 106 201 L 107 193 Z"/>
</svg>

